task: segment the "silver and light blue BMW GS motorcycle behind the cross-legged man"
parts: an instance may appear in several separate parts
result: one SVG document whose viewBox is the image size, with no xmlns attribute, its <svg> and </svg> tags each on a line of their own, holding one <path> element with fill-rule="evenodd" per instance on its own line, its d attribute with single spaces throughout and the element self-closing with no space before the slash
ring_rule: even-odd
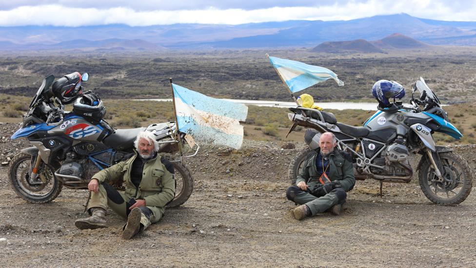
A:
<svg viewBox="0 0 476 268">
<path fill-rule="evenodd" d="M 419 92 L 419 98 L 414 93 Z M 425 196 L 441 205 L 463 202 L 471 192 L 472 173 L 468 163 L 451 148 L 436 146 L 432 134 L 442 132 L 455 139 L 463 136 L 450 123 L 447 112 L 423 78 L 413 85 L 411 105 L 395 102 L 381 109 L 363 126 L 339 123 L 332 113 L 304 107 L 289 108 L 288 118 L 293 122 L 289 133 L 297 125 L 313 128 L 313 142 L 318 144 L 323 132 L 336 135 L 337 146 L 352 155 L 356 179 L 372 178 L 382 182 L 409 183 L 414 170 Z M 288 133 L 288 134 L 289 134 Z M 311 148 L 303 149 L 289 165 L 289 179 L 295 184 L 300 165 Z M 421 154 L 421 160 L 412 168 L 410 153 Z"/>
</svg>

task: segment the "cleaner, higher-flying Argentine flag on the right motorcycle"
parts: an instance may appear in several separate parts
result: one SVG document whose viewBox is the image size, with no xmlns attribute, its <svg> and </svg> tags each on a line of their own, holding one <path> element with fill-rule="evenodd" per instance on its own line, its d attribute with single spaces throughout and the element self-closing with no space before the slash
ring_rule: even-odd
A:
<svg viewBox="0 0 476 268">
<path fill-rule="evenodd" d="M 337 78 L 337 74 L 324 67 L 276 57 L 269 57 L 269 61 L 276 68 L 283 82 L 288 85 L 292 93 L 301 91 L 319 82 L 324 82 L 330 78 L 334 79 L 338 85 L 344 85 L 344 82 Z"/>
</svg>

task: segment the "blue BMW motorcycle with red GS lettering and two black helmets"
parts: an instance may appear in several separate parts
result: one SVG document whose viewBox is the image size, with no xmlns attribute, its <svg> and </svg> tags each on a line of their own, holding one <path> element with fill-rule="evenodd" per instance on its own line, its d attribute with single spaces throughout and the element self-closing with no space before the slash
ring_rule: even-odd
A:
<svg viewBox="0 0 476 268">
<path fill-rule="evenodd" d="M 53 75 L 43 80 L 23 115 L 22 126 L 11 137 L 26 137 L 33 145 L 22 149 L 9 165 L 8 177 L 17 195 L 28 202 L 45 203 L 58 197 L 63 186 L 87 189 L 96 172 L 130 158 L 136 136 L 146 130 L 155 135 L 159 153 L 166 153 L 175 167 L 176 196 L 167 206 L 182 205 L 193 189 L 192 172 L 182 159 L 195 156 L 199 146 L 194 154 L 183 156 L 185 133 L 178 131 L 175 122 L 114 129 L 103 120 L 105 107 L 100 99 L 85 102 L 95 96 L 82 92 L 80 84 L 88 76 L 75 72 L 56 82 Z M 64 104 L 75 100 L 73 111 L 64 111 Z M 115 187 L 120 190 L 122 182 Z"/>
</svg>

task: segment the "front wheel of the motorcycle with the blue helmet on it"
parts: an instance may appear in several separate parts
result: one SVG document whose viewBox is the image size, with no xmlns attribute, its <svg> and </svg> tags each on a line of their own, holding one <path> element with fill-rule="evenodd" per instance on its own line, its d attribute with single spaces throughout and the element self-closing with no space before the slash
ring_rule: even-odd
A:
<svg viewBox="0 0 476 268">
<path fill-rule="evenodd" d="M 425 196 L 433 203 L 456 205 L 463 202 L 471 193 L 473 176 L 468 163 L 455 152 L 440 153 L 443 165 L 443 180 L 436 177 L 428 159 L 422 163 L 418 182 Z"/>
</svg>

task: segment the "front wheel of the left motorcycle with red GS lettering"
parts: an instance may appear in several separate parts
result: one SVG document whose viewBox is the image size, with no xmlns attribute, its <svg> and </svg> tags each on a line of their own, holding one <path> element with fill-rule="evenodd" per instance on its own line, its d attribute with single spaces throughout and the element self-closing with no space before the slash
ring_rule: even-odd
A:
<svg viewBox="0 0 476 268">
<path fill-rule="evenodd" d="M 8 179 L 15 193 L 31 203 L 46 203 L 54 200 L 61 192 L 62 184 L 44 163 L 41 164 L 39 176 L 30 177 L 32 163 L 36 157 L 19 153 L 8 166 Z"/>
</svg>

